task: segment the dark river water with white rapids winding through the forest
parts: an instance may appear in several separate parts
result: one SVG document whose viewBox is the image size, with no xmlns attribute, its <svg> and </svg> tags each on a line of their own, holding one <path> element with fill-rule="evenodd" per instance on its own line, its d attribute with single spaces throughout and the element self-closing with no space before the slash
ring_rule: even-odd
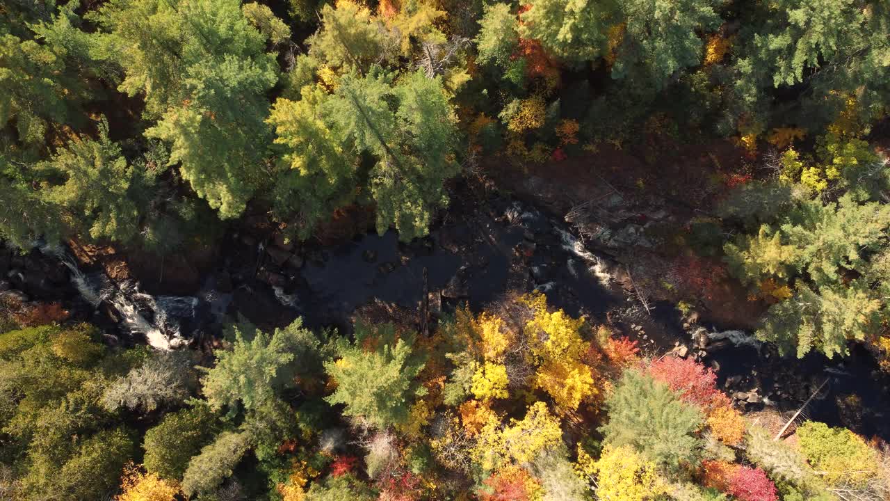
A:
<svg viewBox="0 0 890 501">
<path fill-rule="evenodd" d="M 111 283 L 101 271 L 81 270 L 64 251 L 44 251 L 70 268 L 72 286 L 91 308 L 101 312 L 106 307 L 121 333 L 142 337 L 158 349 L 218 333 L 238 315 L 265 327 L 303 316 L 312 327 L 348 330 L 352 313 L 372 300 L 417 308 L 425 290 L 424 270 L 428 290 L 441 291 L 444 310 L 465 302 L 478 311 L 506 292 L 538 290 L 572 316 L 585 315 L 594 324 L 609 321 L 647 353 L 663 353 L 676 343 L 692 345 L 673 305 L 656 303 L 647 312 L 611 280 L 616 264 L 607 256 L 587 249 L 561 220 L 517 201 L 453 204 L 430 236 L 408 244 L 387 232 L 310 246 L 303 252 L 303 267 L 290 272 L 274 267 L 262 246 L 241 242 L 234 234 L 227 238 L 230 242 L 222 243 L 225 264 L 206 276 L 194 296 L 150 296 L 138 283 Z M 257 278 L 266 268 L 286 276 L 285 283 Z M 233 277 L 231 291 L 217 286 L 214 275 L 223 273 Z M 635 330 L 639 327 L 645 334 Z M 793 410 L 828 378 L 807 415 L 890 439 L 887 378 L 864 351 L 854 350 L 845 362 L 816 355 L 781 359 L 748 333 L 708 328 L 713 341 L 703 362 L 718 369 L 718 383 L 728 385 L 730 393 L 756 388 L 766 399 L 755 408 Z M 858 399 L 854 410 L 838 405 L 851 396 Z"/>
</svg>

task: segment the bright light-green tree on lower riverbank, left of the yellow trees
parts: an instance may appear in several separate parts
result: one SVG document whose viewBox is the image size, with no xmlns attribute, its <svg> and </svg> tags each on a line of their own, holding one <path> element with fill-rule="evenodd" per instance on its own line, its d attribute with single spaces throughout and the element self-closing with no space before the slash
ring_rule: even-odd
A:
<svg viewBox="0 0 890 501">
<path fill-rule="evenodd" d="M 345 415 L 360 416 L 378 428 L 405 423 L 412 399 L 425 393 L 415 381 L 424 364 L 412 357 L 412 340 L 395 341 L 393 329 L 356 325 L 355 343 L 340 349 L 336 362 L 325 364 L 337 385 L 328 402 L 345 404 Z M 362 340 L 372 337 L 376 349 L 363 349 Z"/>
</svg>

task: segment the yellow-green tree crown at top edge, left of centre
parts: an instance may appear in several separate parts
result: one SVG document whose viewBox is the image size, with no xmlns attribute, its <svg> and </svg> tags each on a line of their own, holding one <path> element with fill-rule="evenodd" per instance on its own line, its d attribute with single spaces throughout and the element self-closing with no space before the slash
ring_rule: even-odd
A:
<svg viewBox="0 0 890 501">
<path fill-rule="evenodd" d="M 306 40 L 310 55 L 328 66 L 367 70 L 383 58 L 383 25 L 358 3 L 344 0 L 321 9 L 321 28 Z"/>
</svg>

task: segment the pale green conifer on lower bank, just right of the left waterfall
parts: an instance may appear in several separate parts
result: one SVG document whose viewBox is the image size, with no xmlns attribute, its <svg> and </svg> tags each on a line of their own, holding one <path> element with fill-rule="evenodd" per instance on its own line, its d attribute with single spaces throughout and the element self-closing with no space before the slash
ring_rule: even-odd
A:
<svg viewBox="0 0 890 501">
<path fill-rule="evenodd" d="M 235 333 L 232 349 L 217 350 L 216 365 L 205 369 L 206 375 L 201 378 L 210 407 L 229 407 L 231 414 L 237 411 L 239 403 L 251 411 L 276 398 L 276 390 L 293 377 L 286 365 L 302 361 L 303 355 L 318 343 L 312 333 L 303 329 L 302 319 L 285 329 L 276 329 L 271 336 L 256 331 L 250 341 L 245 341 L 237 327 Z"/>
</svg>

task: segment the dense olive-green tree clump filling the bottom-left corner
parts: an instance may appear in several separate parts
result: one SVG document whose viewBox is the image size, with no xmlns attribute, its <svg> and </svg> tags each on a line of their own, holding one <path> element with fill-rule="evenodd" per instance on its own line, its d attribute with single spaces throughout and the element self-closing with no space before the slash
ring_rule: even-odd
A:
<svg viewBox="0 0 890 501">
<path fill-rule="evenodd" d="M 87 326 L 0 334 L 3 459 L 21 464 L 28 500 L 80 500 L 117 487 L 134 435 L 101 407 L 104 347 Z"/>
</svg>

